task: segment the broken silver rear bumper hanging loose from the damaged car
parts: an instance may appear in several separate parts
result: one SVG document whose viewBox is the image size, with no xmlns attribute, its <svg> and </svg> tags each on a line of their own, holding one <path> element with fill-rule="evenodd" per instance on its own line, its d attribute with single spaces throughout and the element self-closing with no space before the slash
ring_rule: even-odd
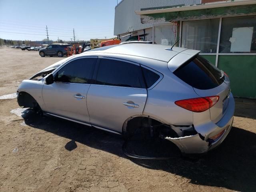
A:
<svg viewBox="0 0 256 192">
<path fill-rule="evenodd" d="M 234 120 L 234 110 L 235 102 L 233 95 L 230 94 L 228 108 L 222 119 L 216 124 L 210 121 L 200 126 L 200 128 L 202 128 L 203 126 L 205 129 L 210 130 L 207 135 L 200 134 L 200 129 L 197 130 L 197 128 L 195 127 L 195 130 L 198 132 L 198 134 L 196 135 L 166 139 L 176 144 L 182 154 L 188 155 L 206 153 L 209 150 L 212 150 L 219 146 L 230 132 Z M 224 133 L 218 139 L 214 141 L 209 139 L 209 135 L 217 135 L 222 131 L 224 131 Z"/>
</svg>

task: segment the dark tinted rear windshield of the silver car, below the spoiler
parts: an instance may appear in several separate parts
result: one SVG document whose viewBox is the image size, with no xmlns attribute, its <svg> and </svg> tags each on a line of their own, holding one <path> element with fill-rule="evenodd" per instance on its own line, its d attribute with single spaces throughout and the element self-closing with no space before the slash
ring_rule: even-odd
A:
<svg viewBox="0 0 256 192">
<path fill-rule="evenodd" d="M 212 89 L 224 81 L 220 70 L 200 55 L 195 56 L 173 72 L 178 78 L 197 89 Z"/>
</svg>

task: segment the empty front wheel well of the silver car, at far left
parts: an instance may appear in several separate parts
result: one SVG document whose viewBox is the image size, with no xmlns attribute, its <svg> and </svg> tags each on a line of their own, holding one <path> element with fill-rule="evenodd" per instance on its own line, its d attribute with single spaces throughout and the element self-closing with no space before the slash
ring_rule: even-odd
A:
<svg viewBox="0 0 256 192">
<path fill-rule="evenodd" d="M 30 94 L 27 92 L 19 92 L 18 94 L 18 104 L 19 106 L 24 106 L 24 107 L 29 107 L 29 108 L 35 108 L 35 107 L 40 107 L 34 97 L 32 97 Z"/>
</svg>

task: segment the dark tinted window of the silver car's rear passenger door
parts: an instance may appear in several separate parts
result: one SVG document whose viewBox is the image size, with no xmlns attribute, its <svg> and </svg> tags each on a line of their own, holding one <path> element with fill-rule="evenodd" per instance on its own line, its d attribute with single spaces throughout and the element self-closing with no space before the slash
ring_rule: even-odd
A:
<svg viewBox="0 0 256 192">
<path fill-rule="evenodd" d="M 146 88 L 140 66 L 111 59 L 101 59 L 95 84 Z"/>
</svg>

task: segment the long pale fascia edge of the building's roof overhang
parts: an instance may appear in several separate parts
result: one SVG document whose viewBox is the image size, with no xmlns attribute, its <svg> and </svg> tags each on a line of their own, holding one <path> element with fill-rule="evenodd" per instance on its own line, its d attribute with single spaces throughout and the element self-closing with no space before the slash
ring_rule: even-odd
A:
<svg viewBox="0 0 256 192">
<path fill-rule="evenodd" d="M 200 10 L 200 9 L 220 8 L 220 7 L 229 7 L 229 6 L 239 6 L 239 5 L 251 5 L 251 4 L 256 4 L 256 0 L 234 0 L 234 1 L 228 0 L 228 1 L 206 3 L 206 4 L 199 4 L 199 5 L 166 8 L 166 9 L 135 11 L 135 13 L 137 15 L 146 15 L 146 14 L 179 12 L 179 11 Z"/>
</svg>

